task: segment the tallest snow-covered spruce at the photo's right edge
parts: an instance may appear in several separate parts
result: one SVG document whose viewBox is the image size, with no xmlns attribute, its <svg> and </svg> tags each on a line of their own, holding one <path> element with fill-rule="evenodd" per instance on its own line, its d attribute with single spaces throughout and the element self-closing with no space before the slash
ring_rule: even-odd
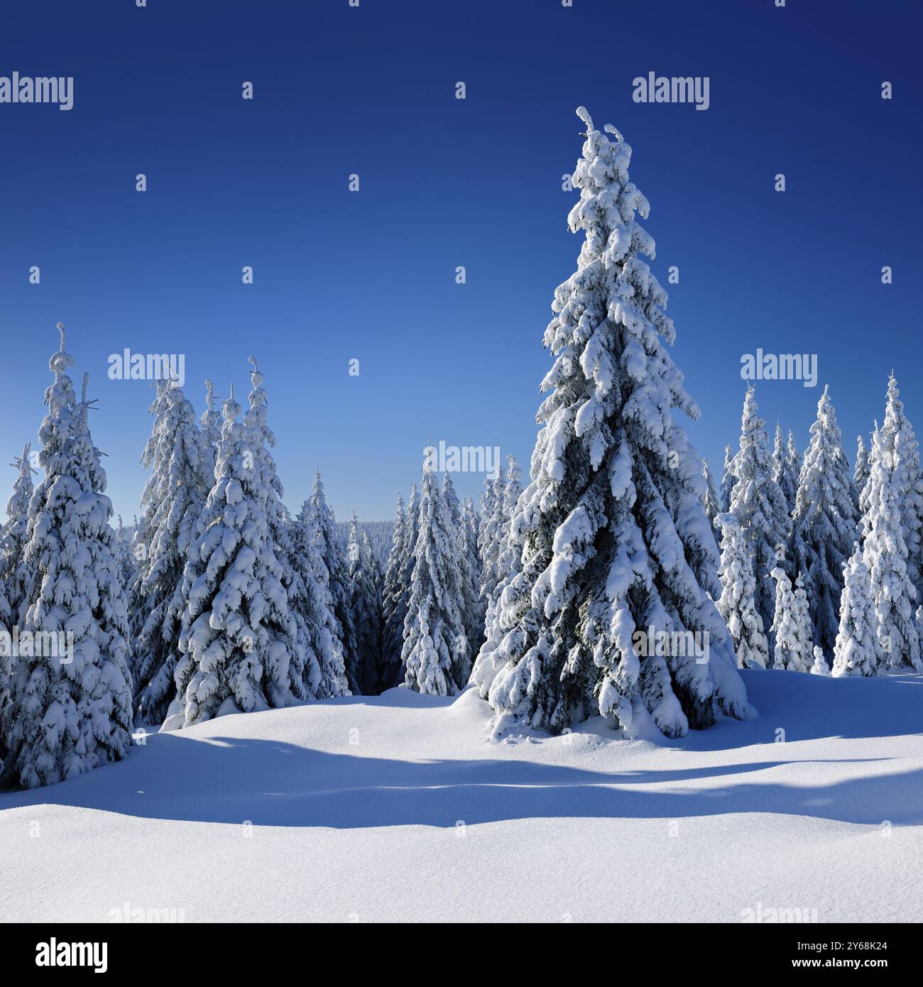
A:
<svg viewBox="0 0 923 987">
<path fill-rule="evenodd" d="M 904 458 L 907 452 L 902 409 L 898 409 L 894 378 L 888 382 L 885 422 L 872 438 L 869 479 L 860 502 L 862 558 L 869 569 L 875 602 L 879 644 L 886 666 L 910 665 L 923 671 L 920 641 L 913 612 L 917 591 L 907 566 L 909 550 L 905 523 L 910 481 Z"/>
</svg>

